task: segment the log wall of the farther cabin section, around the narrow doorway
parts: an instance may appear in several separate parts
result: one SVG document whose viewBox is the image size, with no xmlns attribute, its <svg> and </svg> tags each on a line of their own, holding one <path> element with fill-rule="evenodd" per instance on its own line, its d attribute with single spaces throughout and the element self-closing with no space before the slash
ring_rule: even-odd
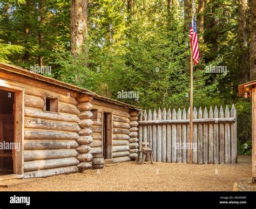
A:
<svg viewBox="0 0 256 209">
<path fill-rule="evenodd" d="M 103 113 L 112 113 L 112 162 L 127 162 L 135 159 L 138 152 L 138 112 L 98 99 L 92 100 L 97 109 L 97 120 L 92 120 L 90 153 L 103 151 Z"/>
</svg>

